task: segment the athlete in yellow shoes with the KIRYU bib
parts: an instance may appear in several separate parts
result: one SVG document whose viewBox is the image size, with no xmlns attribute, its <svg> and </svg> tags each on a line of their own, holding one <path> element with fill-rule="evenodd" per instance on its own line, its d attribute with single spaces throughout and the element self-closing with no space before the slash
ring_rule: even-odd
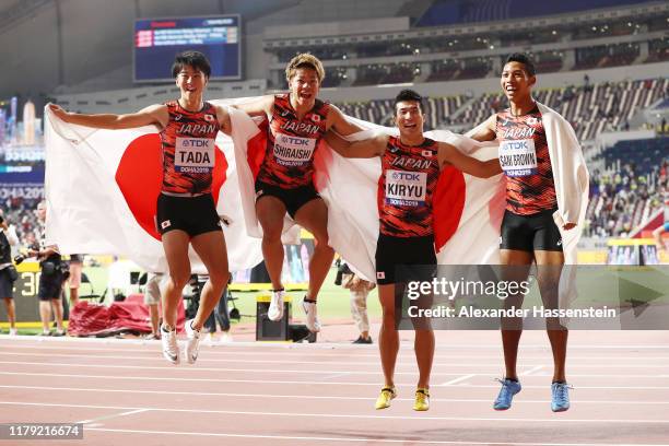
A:
<svg viewBox="0 0 669 446">
<path fill-rule="evenodd" d="M 386 383 L 376 400 L 376 409 L 389 407 L 396 396 L 394 375 L 399 351 L 396 294 L 403 294 L 402 282 L 429 279 L 425 269 L 416 266 L 436 265 L 432 201 L 441 171 L 451 164 L 483 178 L 501 172 L 497 159 L 482 162 L 450 144 L 425 138 L 422 98 L 414 91 L 403 90 L 397 95 L 395 111 L 399 137 L 379 134 L 369 140 L 347 142 L 332 132 L 326 136 L 328 144 L 342 156 L 382 159 L 376 281 L 384 317 L 378 339 Z M 398 271 L 400 266 L 403 268 Z M 434 356 L 434 333 L 429 324 L 421 322 L 415 325 L 414 349 L 420 376 L 414 410 L 430 408 L 430 372 Z"/>
</svg>

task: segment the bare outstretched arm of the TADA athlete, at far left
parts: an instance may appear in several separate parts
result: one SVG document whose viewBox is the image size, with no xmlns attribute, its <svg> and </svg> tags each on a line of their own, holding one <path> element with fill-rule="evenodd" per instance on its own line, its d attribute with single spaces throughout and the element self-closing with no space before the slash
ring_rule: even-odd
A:
<svg viewBox="0 0 669 446">
<path fill-rule="evenodd" d="M 127 115 L 84 115 L 79 113 L 68 113 L 59 105 L 49 104 L 49 109 L 66 122 L 79 126 L 93 127 L 96 129 L 131 129 L 134 127 L 159 125 L 161 128 L 167 126 L 169 115 L 166 105 L 150 105 L 137 113 Z"/>
</svg>

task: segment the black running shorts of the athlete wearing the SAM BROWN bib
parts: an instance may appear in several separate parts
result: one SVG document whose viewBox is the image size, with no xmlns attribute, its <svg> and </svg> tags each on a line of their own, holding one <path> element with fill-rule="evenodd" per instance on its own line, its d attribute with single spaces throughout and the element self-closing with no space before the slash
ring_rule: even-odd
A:
<svg viewBox="0 0 669 446">
<path fill-rule="evenodd" d="M 562 251 L 562 235 L 553 220 L 554 212 L 555 209 L 550 209 L 531 215 L 518 215 L 505 211 L 500 248 L 527 253 Z"/>
</svg>

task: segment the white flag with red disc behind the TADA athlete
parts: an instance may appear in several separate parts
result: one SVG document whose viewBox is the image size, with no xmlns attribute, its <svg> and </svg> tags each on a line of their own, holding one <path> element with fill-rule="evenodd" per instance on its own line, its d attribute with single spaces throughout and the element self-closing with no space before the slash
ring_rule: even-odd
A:
<svg viewBox="0 0 669 446">
<path fill-rule="evenodd" d="M 154 220 L 162 179 L 157 128 L 97 130 L 66 124 L 48 108 L 45 116 L 48 240 L 63 254 L 115 255 L 166 272 Z M 253 268 L 262 253 L 260 240 L 246 234 L 232 141 L 219 133 L 216 146 L 214 200 L 228 222 L 230 269 Z M 203 273 L 192 248 L 190 259 L 193 272 Z"/>
</svg>

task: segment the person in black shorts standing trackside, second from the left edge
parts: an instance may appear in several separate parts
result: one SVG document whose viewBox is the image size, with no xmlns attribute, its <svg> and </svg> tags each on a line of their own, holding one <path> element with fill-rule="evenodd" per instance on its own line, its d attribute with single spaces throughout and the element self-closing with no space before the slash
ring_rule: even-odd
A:
<svg viewBox="0 0 669 446">
<path fill-rule="evenodd" d="M 37 206 L 37 215 L 40 222 L 46 221 L 47 208 L 46 201 L 42 201 Z M 43 336 L 64 336 L 62 326 L 62 285 L 66 280 L 63 274 L 63 263 L 60 257 L 58 246 L 46 239 L 46 233 L 39 243 L 39 249 L 28 249 L 30 257 L 36 257 L 39 260 L 42 274 L 39 275 L 39 289 L 37 297 L 39 298 L 39 318 L 42 319 Z M 51 333 L 49 324 L 51 322 L 51 309 L 56 318 L 56 331 Z"/>
</svg>

